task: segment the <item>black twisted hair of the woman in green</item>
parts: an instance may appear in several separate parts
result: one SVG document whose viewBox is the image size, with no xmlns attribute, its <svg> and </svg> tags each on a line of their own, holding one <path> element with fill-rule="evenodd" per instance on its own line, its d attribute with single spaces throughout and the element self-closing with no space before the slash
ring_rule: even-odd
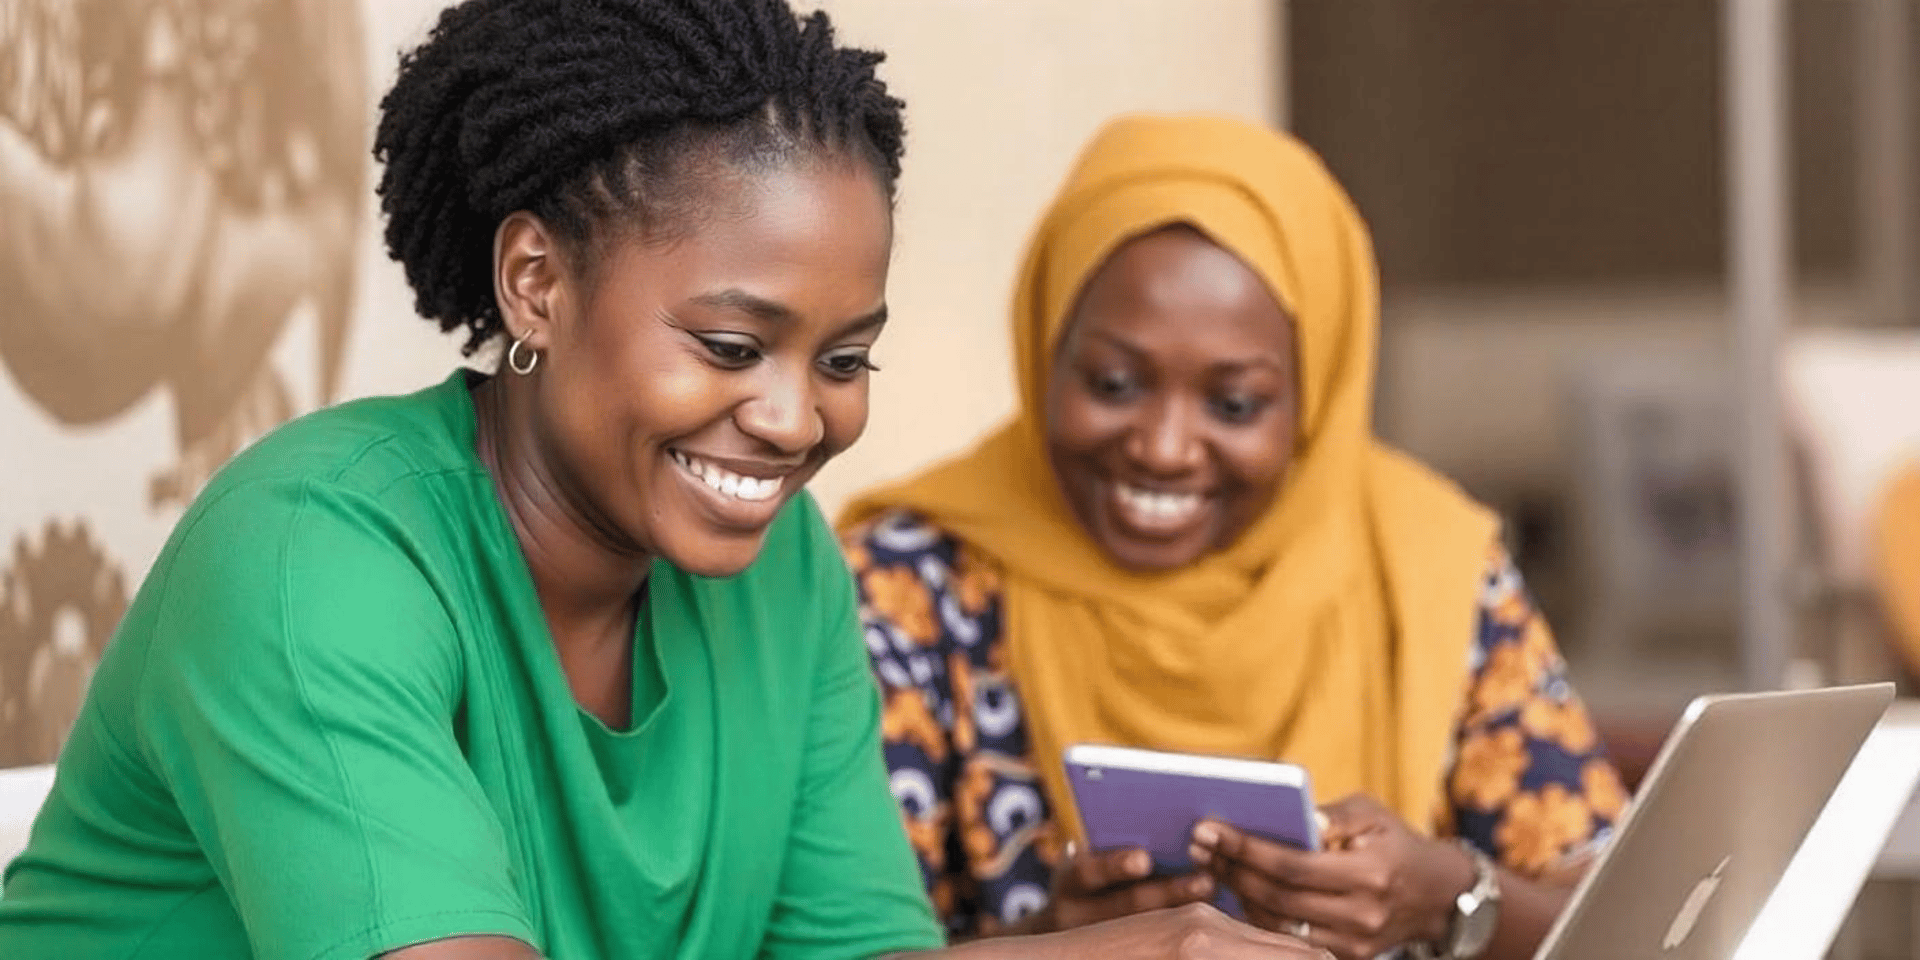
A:
<svg viewBox="0 0 1920 960">
<path fill-rule="evenodd" d="M 900 175 L 904 104 L 785 0 L 465 0 L 401 56 L 374 157 L 386 248 L 415 309 L 472 353 L 503 330 L 493 232 L 532 211 L 586 248 L 697 213 L 699 161 L 760 169 L 803 152 Z M 591 257 L 589 257 L 591 259 Z"/>
</svg>

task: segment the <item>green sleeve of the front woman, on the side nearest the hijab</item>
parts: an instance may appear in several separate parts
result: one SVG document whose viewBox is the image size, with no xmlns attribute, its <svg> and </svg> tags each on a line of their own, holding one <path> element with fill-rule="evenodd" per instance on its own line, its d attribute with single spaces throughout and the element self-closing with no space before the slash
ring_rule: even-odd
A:
<svg viewBox="0 0 1920 960">
<path fill-rule="evenodd" d="M 860 958 L 943 943 L 887 789 L 879 695 L 852 582 L 814 516 L 814 595 L 826 611 L 801 791 L 762 956 Z"/>
</svg>

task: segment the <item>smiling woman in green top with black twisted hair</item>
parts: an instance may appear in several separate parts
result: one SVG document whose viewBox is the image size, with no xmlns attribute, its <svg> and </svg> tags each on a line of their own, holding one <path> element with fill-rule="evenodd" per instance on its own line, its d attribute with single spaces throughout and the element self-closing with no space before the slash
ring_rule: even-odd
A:
<svg viewBox="0 0 1920 960">
<path fill-rule="evenodd" d="M 781 0 L 468 0 L 374 154 L 419 311 L 505 348 L 275 432 L 94 680 L 0 956 L 939 947 L 847 570 L 900 102 Z M 1206 908 L 958 948 L 1306 956 Z"/>
</svg>

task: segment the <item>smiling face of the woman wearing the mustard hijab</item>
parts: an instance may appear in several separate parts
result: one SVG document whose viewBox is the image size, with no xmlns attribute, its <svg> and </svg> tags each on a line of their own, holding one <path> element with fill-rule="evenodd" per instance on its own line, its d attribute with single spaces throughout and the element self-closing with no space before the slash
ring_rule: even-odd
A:
<svg viewBox="0 0 1920 960">
<path fill-rule="evenodd" d="M 1081 290 L 1046 384 L 1046 451 L 1114 563 L 1171 570 L 1225 549 L 1294 453 L 1292 323 L 1198 230 L 1129 240 Z"/>
</svg>

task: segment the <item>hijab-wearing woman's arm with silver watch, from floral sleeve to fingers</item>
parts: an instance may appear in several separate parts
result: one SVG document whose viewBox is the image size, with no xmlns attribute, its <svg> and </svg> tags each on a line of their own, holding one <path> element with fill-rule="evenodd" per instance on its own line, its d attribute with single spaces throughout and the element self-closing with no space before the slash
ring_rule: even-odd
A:
<svg viewBox="0 0 1920 960">
<path fill-rule="evenodd" d="M 1476 960 L 1524 960 L 1565 908 L 1624 791 L 1503 553 L 1480 595 L 1471 670 L 1442 828 L 1500 864 L 1496 929 Z M 1327 814 L 1327 852 L 1213 824 L 1196 831 L 1196 858 L 1240 895 L 1256 924 L 1304 931 L 1342 958 L 1444 945 L 1453 900 L 1475 883 L 1475 856 L 1371 797 L 1342 799 Z"/>
</svg>

